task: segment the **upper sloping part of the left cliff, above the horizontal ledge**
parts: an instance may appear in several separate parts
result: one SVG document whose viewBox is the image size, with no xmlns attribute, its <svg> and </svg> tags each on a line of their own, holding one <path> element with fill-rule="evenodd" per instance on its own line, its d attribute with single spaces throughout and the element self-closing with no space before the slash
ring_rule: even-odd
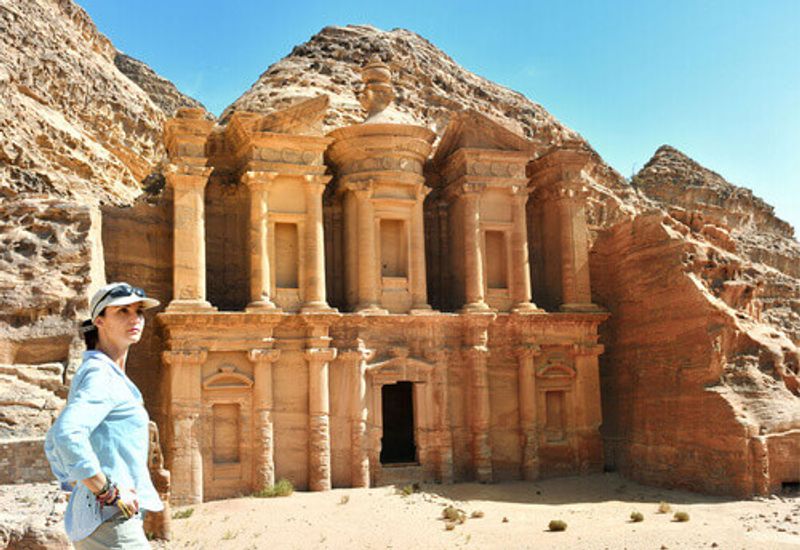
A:
<svg viewBox="0 0 800 550">
<path fill-rule="evenodd" d="M 128 201 L 162 154 L 164 113 L 70 0 L 0 6 L 0 195 Z"/>
</svg>

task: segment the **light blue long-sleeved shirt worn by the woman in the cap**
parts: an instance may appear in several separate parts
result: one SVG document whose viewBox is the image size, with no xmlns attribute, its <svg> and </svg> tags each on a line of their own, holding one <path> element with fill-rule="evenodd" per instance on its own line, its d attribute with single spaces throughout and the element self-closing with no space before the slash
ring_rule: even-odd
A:
<svg viewBox="0 0 800 550">
<path fill-rule="evenodd" d="M 81 483 L 100 472 L 122 488 L 135 489 L 140 509 L 164 509 L 147 468 L 148 422 L 139 388 L 106 354 L 84 353 L 67 405 L 44 446 L 62 486 L 75 484 L 64 517 L 71 540 L 88 537 L 118 511 L 116 506 L 101 507 Z"/>
</svg>

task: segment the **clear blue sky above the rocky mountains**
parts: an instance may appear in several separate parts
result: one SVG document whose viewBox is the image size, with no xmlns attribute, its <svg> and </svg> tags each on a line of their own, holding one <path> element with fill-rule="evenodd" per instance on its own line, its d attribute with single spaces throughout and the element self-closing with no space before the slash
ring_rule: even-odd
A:
<svg viewBox="0 0 800 550">
<path fill-rule="evenodd" d="M 800 0 L 78 0 L 118 49 L 219 114 L 326 25 L 419 33 L 630 176 L 668 143 L 800 230 Z"/>
</svg>

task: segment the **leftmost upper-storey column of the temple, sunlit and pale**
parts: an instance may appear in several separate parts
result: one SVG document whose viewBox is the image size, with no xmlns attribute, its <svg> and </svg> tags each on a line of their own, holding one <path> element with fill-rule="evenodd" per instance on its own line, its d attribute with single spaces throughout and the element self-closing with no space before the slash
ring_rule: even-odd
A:
<svg viewBox="0 0 800 550">
<path fill-rule="evenodd" d="M 167 311 L 210 310 L 206 301 L 205 188 L 211 168 L 166 175 L 173 192 L 172 292 Z"/>
</svg>

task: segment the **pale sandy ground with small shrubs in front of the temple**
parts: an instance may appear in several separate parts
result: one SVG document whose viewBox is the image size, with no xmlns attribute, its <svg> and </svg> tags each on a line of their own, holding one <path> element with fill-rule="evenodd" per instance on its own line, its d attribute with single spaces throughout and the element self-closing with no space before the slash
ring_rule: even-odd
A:
<svg viewBox="0 0 800 550">
<path fill-rule="evenodd" d="M 689 513 L 659 514 L 661 501 Z M 468 519 L 446 529 L 452 504 Z M 185 508 L 181 508 L 185 510 Z M 469 518 L 473 511 L 482 518 Z M 630 521 L 632 511 L 644 521 Z M 549 532 L 552 519 L 567 530 Z M 616 475 L 536 483 L 335 489 L 194 506 L 171 548 L 800 548 L 800 497 L 730 500 L 645 487 Z M 163 546 L 162 546 L 163 547 Z"/>
</svg>

